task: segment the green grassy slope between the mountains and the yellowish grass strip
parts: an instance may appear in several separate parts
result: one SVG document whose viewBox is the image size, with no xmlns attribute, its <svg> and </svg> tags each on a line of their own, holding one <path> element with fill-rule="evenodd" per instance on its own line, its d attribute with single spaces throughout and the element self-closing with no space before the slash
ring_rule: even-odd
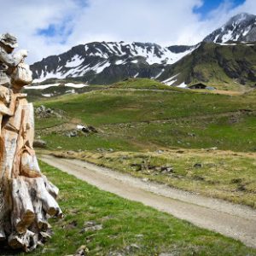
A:
<svg viewBox="0 0 256 256">
<path fill-rule="evenodd" d="M 78 149 L 79 140 L 81 149 L 96 149 L 101 142 L 102 148 L 124 150 L 129 145 L 137 148 L 138 144 L 144 148 L 147 143 L 155 147 L 255 149 L 254 113 L 239 111 L 256 110 L 253 96 L 111 89 L 62 96 L 37 105 L 42 103 L 49 108 L 61 108 L 70 119 L 79 119 L 102 131 L 92 137 L 67 138 L 65 142 L 58 134 L 43 134 L 52 142 L 49 144 L 52 148 L 61 143 L 63 148 Z M 38 119 L 36 127 L 59 122 Z"/>
</svg>

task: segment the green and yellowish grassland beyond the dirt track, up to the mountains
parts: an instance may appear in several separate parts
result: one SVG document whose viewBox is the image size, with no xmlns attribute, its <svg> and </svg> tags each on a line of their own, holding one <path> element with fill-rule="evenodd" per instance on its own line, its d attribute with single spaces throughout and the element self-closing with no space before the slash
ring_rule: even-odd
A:
<svg viewBox="0 0 256 256">
<path fill-rule="evenodd" d="M 255 207 L 255 96 L 254 91 L 233 96 L 167 90 L 156 81 L 129 79 L 108 90 L 38 102 L 63 110 L 64 117 L 37 119 L 36 128 L 49 150 L 82 151 L 78 157 L 102 166 Z M 93 125 L 98 132 L 67 137 L 77 124 Z M 183 154 L 177 154 L 179 148 Z M 206 148 L 232 152 L 210 154 Z M 159 149 L 164 154 L 154 155 Z M 123 154 L 130 155 L 128 161 Z M 149 166 L 171 165 L 174 172 L 151 172 L 147 165 L 137 172 L 132 164 L 144 160 Z"/>
</svg>

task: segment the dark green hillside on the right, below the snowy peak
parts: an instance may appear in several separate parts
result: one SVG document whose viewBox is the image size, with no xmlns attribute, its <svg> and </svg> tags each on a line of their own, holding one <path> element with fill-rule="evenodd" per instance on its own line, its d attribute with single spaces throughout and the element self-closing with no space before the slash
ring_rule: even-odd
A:
<svg viewBox="0 0 256 256">
<path fill-rule="evenodd" d="M 244 84 L 256 84 L 255 56 L 255 43 L 201 43 L 190 55 L 167 67 L 159 79 L 177 75 L 174 84 L 202 82 L 221 90 L 243 90 Z"/>
</svg>

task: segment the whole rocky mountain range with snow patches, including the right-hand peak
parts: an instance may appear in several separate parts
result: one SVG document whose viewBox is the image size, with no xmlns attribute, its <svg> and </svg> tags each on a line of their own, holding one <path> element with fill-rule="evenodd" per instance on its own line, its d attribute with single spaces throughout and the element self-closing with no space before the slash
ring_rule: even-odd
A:
<svg viewBox="0 0 256 256">
<path fill-rule="evenodd" d="M 159 79 L 168 85 L 185 87 L 186 84 L 194 82 L 214 84 L 216 79 L 221 82 L 222 79 L 218 79 L 216 74 L 207 77 L 212 73 L 210 63 L 214 63 L 214 67 L 215 63 L 218 63 L 220 70 L 224 72 L 221 75 L 228 83 L 233 83 L 236 79 L 239 84 L 252 84 L 254 75 L 247 76 L 244 73 L 249 67 L 250 73 L 254 73 L 256 55 L 248 48 L 251 46 L 254 49 L 254 44 L 245 44 L 244 41 L 256 41 L 255 15 L 240 14 L 232 17 L 224 26 L 209 34 L 202 43 L 194 46 L 162 47 L 151 43 L 93 42 L 74 46 L 61 55 L 44 58 L 34 63 L 31 69 L 34 83 L 45 79 L 76 79 L 89 84 L 112 84 L 133 77 Z M 205 44 L 217 45 L 212 48 L 205 47 Z M 231 46 L 235 53 L 241 51 L 245 56 L 253 56 L 242 58 L 238 53 L 230 52 Z M 212 49 L 218 52 L 220 48 L 220 52 L 230 52 L 230 55 L 212 54 Z M 206 57 L 207 50 L 210 50 L 209 58 Z M 197 61 L 188 61 L 191 55 L 195 55 L 194 52 Z M 228 58 L 228 61 L 223 61 L 223 58 Z M 198 60 L 206 59 L 211 60 L 209 63 L 202 61 L 205 67 L 199 65 Z M 228 69 L 227 63 L 234 69 L 232 72 L 225 72 Z M 184 66 L 185 69 L 178 68 Z M 199 68 L 201 70 L 198 70 Z"/>
</svg>

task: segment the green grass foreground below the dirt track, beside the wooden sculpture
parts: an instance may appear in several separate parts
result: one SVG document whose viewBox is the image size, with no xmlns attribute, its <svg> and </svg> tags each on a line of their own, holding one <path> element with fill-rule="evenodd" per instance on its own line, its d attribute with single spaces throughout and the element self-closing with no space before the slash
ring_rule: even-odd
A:
<svg viewBox="0 0 256 256">
<path fill-rule="evenodd" d="M 103 192 L 43 163 L 41 168 L 60 189 L 65 218 L 52 221 L 53 238 L 29 255 L 73 254 L 81 245 L 88 255 L 256 255 L 239 241 Z M 84 230 L 88 222 L 99 229 Z"/>
</svg>

